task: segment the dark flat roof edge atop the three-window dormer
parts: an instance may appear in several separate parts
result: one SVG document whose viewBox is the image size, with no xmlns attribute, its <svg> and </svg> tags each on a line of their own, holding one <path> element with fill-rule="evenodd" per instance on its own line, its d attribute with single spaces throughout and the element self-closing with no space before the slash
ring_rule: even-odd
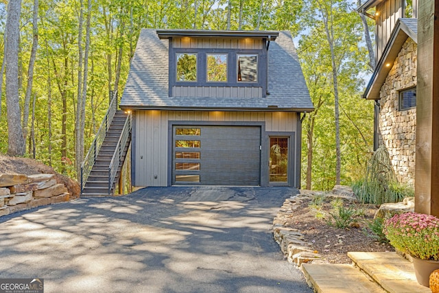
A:
<svg viewBox="0 0 439 293">
<path fill-rule="evenodd" d="M 233 30 L 157 30 L 158 38 L 174 37 L 233 37 L 233 38 L 267 38 L 276 40 L 279 32 L 269 31 L 233 31 Z"/>
</svg>

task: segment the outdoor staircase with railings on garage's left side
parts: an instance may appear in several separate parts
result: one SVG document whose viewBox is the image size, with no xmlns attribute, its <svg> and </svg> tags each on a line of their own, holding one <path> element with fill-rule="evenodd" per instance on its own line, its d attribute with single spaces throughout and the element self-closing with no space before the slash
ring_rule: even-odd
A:
<svg viewBox="0 0 439 293">
<path fill-rule="evenodd" d="M 115 186 L 131 142 L 131 114 L 117 109 L 114 95 L 81 167 L 81 195 L 108 196 Z"/>
</svg>

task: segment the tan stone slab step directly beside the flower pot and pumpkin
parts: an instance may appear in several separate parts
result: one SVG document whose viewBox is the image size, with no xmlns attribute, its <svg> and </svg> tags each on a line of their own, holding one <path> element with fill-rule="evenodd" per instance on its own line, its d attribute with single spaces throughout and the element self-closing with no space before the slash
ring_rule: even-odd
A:
<svg viewBox="0 0 439 293">
<path fill-rule="evenodd" d="M 348 253 L 348 257 L 386 292 L 431 293 L 416 281 L 413 263 L 396 253 Z"/>
</svg>

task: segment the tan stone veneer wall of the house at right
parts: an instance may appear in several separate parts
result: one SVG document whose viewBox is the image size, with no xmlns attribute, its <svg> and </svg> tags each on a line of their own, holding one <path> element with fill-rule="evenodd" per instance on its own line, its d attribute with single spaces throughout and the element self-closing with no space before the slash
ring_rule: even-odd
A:
<svg viewBox="0 0 439 293">
<path fill-rule="evenodd" d="M 417 45 L 407 38 L 380 91 L 379 144 L 385 145 L 396 176 L 414 186 L 416 108 L 399 111 L 399 91 L 416 86 Z"/>
</svg>

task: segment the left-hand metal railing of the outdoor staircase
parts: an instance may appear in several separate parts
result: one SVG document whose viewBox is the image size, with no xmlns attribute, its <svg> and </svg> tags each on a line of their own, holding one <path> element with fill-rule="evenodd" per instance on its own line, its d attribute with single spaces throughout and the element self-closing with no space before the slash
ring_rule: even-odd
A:
<svg viewBox="0 0 439 293">
<path fill-rule="evenodd" d="M 114 91 L 107 113 L 105 114 L 101 126 L 99 126 L 99 130 L 97 130 L 97 133 L 95 134 L 95 139 L 93 140 L 93 143 L 91 143 L 90 149 L 81 165 L 81 194 L 84 190 L 84 185 L 87 182 L 88 176 L 90 176 L 91 169 L 93 168 L 93 165 L 95 165 L 97 154 L 99 154 L 99 150 L 101 149 L 106 133 L 111 126 L 112 118 L 115 117 L 116 111 L 117 91 Z"/>
</svg>

